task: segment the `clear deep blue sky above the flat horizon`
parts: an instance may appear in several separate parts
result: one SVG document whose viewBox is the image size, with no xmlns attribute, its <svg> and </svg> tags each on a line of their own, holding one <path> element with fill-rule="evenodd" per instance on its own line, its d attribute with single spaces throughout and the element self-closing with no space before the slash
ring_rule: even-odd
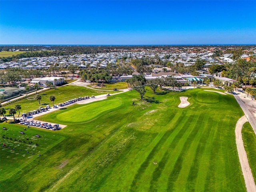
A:
<svg viewBox="0 0 256 192">
<path fill-rule="evenodd" d="M 256 1 L 1 0 L 0 44 L 256 44 Z"/>
</svg>

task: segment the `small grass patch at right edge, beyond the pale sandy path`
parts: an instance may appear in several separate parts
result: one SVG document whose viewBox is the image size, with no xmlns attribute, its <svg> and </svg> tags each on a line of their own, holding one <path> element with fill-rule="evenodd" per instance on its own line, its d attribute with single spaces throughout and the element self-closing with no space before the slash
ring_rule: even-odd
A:
<svg viewBox="0 0 256 192">
<path fill-rule="evenodd" d="M 254 182 L 256 182 L 256 136 L 249 122 L 246 122 L 243 126 L 242 137 Z"/>
</svg>

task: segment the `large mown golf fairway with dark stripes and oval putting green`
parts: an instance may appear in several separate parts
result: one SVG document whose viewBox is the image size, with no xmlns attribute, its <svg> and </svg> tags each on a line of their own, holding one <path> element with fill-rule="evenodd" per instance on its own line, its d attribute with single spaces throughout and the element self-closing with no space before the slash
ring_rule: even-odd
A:
<svg viewBox="0 0 256 192">
<path fill-rule="evenodd" d="M 67 124 L 49 132 L 64 140 L 11 177 L 1 175 L 2 191 L 245 192 L 234 134 L 243 113 L 234 97 L 200 88 L 151 92 L 38 117 Z M 180 96 L 190 106 L 178 108 Z M 6 156 L 2 150 L 1 160 Z"/>
</svg>

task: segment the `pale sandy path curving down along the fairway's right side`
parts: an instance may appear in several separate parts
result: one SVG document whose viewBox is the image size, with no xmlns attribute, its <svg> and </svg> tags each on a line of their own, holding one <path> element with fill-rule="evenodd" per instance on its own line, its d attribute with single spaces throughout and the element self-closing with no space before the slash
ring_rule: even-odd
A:
<svg viewBox="0 0 256 192">
<path fill-rule="evenodd" d="M 240 161 L 240 165 L 242 168 L 242 173 L 245 180 L 246 189 L 248 192 L 256 192 L 256 185 L 254 183 L 254 178 L 252 176 L 252 170 L 250 168 L 248 158 L 246 155 L 246 151 L 244 149 L 244 143 L 242 140 L 242 127 L 245 122 L 247 122 L 248 119 L 246 116 L 242 116 L 238 122 L 236 123 L 236 147 L 238 151 L 238 157 Z"/>
</svg>

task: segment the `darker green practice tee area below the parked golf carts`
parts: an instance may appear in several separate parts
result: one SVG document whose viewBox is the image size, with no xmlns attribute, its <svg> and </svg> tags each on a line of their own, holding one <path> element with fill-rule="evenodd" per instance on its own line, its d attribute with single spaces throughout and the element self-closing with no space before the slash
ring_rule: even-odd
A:
<svg viewBox="0 0 256 192">
<path fill-rule="evenodd" d="M 7 130 L 3 130 L 2 127 L 6 127 Z M 36 158 L 44 158 L 44 153 L 47 150 L 64 140 L 63 136 L 56 136 L 56 132 L 38 128 L 23 130 L 24 127 L 1 123 L 0 143 L 1 146 L 3 143 L 6 144 L 5 147 L 1 148 L 1 180 L 17 174 Z M 20 134 L 20 131 L 25 134 Z M 40 138 L 36 137 L 36 134 L 40 135 Z"/>
</svg>

